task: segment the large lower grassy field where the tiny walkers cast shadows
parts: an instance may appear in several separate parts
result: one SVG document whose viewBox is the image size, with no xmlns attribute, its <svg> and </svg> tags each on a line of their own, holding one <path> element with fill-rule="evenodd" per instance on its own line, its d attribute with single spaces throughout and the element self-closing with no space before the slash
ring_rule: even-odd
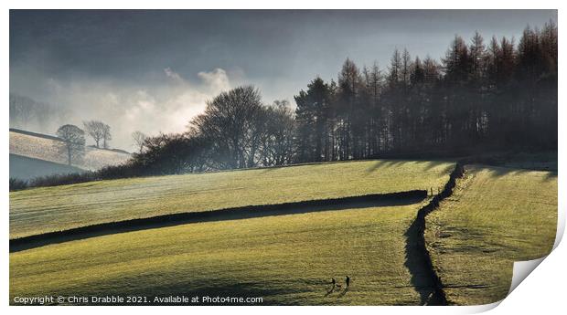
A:
<svg viewBox="0 0 567 315">
<path fill-rule="evenodd" d="M 404 234 L 419 206 L 187 224 L 11 253 L 10 300 L 210 294 L 263 304 L 418 305 Z M 344 288 L 346 275 L 348 291 L 326 294 L 331 277 Z"/>
</svg>

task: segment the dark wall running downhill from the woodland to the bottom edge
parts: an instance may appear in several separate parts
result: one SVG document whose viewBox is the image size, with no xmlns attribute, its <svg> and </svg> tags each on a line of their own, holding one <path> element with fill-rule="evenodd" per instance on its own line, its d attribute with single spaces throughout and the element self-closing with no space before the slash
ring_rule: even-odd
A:
<svg viewBox="0 0 567 315">
<path fill-rule="evenodd" d="M 443 190 L 439 194 L 434 195 L 431 201 L 418 211 L 417 216 L 412 223 L 412 226 L 410 226 L 406 233 L 406 253 L 408 257 L 406 266 L 408 266 L 408 268 L 410 268 L 410 272 L 412 272 L 412 278 L 414 278 L 412 279 L 412 283 L 414 283 L 416 289 L 420 290 L 420 293 L 422 293 L 423 305 L 449 304 L 444 293 L 443 282 L 433 266 L 431 255 L 425 244 L 425 217 L 436 210 L 439 207 L 439 204 L 445 198 L 453 194 L 457 178 L 463 177 L 464 173 L 464 164 L 460 162 L 456 163 L 455 170 L 453 170 L 453 172 L 449 174 L 449 181 L 444 185 Z M 413 244 L 417 246 L 412 247 Z M 412 253 L 409 252 L 411 250 L 410 248 L 412 248 Z M 423 266 L 421 266 L 421 268 L 411 268 L 411 266 L 413 265 L 409 261 L 410 259 L 423 262 L 425 269 L 423 269 Z M 417 283 L 419 282 L 417 278 L 423 278 L 423 274 L 420 273 L 425 273 L 425 281 L 431 283 L 433 285 L 433 288 L 420 288 L 417 285 Z"/>
</svg>

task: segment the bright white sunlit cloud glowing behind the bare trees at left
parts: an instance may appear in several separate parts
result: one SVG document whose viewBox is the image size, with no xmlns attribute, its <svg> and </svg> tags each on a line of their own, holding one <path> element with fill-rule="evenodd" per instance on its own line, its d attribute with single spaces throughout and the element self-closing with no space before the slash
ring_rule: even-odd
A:
<svg viewBox="0 0 567 315">
<path fill-rule="evenodd" d="M 171 68 L 164 72 L 163 81 L 135 87 L 107 81 L 51 81 L 48 84 L 59 89 L 49 101 L 72 111 L 65 123 L 81 126 L 85 120 L 104 121 L 112 128 L 112 147 L 134 150 L 132 132 L 187 131 L 188 122 L 205 110 L 207 100 L 230 89 L 229 76 L 221 68 L 198 72 L 198 82 L 193 84 Z"/>
</svg>

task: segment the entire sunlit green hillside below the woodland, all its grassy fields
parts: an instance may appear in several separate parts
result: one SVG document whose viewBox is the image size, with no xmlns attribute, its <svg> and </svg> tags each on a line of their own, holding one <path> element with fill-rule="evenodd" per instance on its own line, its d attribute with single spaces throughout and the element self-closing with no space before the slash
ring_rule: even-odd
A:
<svg viewBox="0 0 567 315">
<path fill-rule="evenodd" d="M 10 250 L 20 237 L 155 215 L 428 187 L 436 193 L 454 167 L 318 163 L 32 188 L 10 193 Z M 479 304 L 504 297 L 513 260 L 551 249 L 556 173 L 467 165 L 453 194 L 426 218 L 428 267 L 415 222 L 432 199 L 211 215 L 19 248 L 10 253 L 10 301 L 135 295 L 160 304 L 168 296 L 226 295 L 262 297 L 263 305 L 423 305 L 437 286 L 427 275 L 432 268 L 449 303 Z"/>
</svg>

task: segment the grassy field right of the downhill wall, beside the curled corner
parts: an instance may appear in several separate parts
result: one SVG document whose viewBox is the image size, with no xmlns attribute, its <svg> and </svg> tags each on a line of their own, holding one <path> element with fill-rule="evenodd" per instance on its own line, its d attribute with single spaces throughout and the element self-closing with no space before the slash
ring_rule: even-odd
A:
<svg viewBox="0 0 567 315">
<path fill-rule="evenodd" d="M 455 194 L 427 217 L 425 239 L 447 299 L 504 299 L 513 261 L 551 251 L 557 226 L 557 173 L 467 166 Z"/>
</svg>

